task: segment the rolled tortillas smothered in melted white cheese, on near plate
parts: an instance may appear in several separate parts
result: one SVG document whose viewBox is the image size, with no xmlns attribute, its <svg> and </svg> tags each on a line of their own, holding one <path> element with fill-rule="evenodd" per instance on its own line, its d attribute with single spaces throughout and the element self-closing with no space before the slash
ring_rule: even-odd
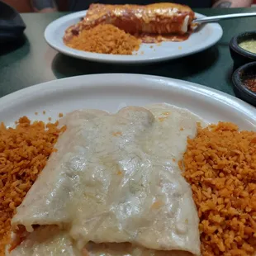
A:
<svg viewBox="0 0 256 256">
<path fill-rule="evenodd" d="M 178 168 L 199 117 L 169 105 L 74 111 L 12 219 L 10 255 L 200 255 Z"/>
</svg>

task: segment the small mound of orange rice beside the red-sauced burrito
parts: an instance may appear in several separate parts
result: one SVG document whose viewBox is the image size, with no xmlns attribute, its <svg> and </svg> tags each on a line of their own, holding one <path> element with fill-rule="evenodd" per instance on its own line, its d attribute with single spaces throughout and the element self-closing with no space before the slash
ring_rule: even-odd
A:
<svg viewBox="0 0 256 256">
<path fill-rule="evenodd" d="M 66 44 L 77 50 L 99 54 L 132 55 L 139 50 L 141 41 L 116 26 L 103 24 L 90 30 L 83 30 Z"/>
</svg>

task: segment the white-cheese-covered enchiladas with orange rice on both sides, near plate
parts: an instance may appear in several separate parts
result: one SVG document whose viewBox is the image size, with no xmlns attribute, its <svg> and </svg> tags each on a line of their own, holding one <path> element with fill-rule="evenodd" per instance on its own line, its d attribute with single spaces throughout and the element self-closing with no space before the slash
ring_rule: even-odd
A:
<svg viewBox="0 0 256 256">
<path fill-rule="evenodd" d="M 18 206 L 6 255 L 255 254 L 256 131 L 168 104 L 73 111 L 47 128 L 24 117 L 0 130 L 2 249 Z"/>
</svg>

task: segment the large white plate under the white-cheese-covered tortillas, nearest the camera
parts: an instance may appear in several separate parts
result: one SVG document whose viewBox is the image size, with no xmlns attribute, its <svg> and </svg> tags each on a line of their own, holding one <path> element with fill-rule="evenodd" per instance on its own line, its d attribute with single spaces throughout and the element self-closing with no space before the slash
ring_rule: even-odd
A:
<svg viewBox="0 0 256 256">
<path fill-rule="evenodd" d="M 14 92 L 0 99 L 0 121 L 13 126 L 23 115 L 47 121 L 82 108 L 115 112 L 126 105 L 160 102 L 187 108 L 209 122 L 232 121 L 256 130 L 256 108 L 235 97 L 182 80 L 128 73 L 64 78 Z"/>
</svg>

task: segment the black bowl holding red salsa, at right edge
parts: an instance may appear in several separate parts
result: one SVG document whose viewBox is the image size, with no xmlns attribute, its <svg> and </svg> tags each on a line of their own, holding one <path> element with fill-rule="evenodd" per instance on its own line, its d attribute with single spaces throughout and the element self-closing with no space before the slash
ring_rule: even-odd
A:
<svg viewBox="0 0 256 256">
<path fill-rule="evenodd" d="M 244 100 L 244 102 L 249 102 L 256 107 L 256 92 L 249 90 L 249 88 L 244 85 L 244 78 L 251 78 L 252 76 L 256 80 L 256 62 L 244 64 L 244 66 L 236 69 L 233 73 L 232 81 L 234 83 L 235 95 Z"/>
</svg>

